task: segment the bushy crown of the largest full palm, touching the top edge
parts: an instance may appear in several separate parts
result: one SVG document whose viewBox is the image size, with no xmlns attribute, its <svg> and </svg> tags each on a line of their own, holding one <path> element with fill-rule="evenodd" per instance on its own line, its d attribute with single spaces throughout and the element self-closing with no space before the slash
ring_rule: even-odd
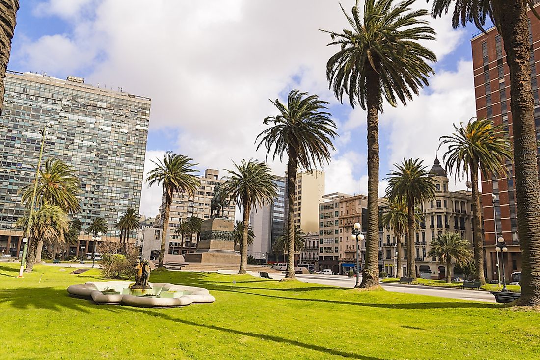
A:
<svg viewBox="0 0 540 360">
<path fill-rule="evenodd" d="M 326 65 L 326 74 L 335 96 L 343 103 L 343 94 L 352 107 L 359 104 L 366 110 L 368 91 L 379 92 L 377 110 L 382 111 L 382 98 L 392 106 L 397 100 L 406 104 L 413 94 L 428 85 L 434 71 L 427 62 L 436 62 L 435 53 L 422 46 L 420 40 L 434 40 L 435 31 L 421 17 L 427 10 L 411 10 L 414 0 L 392 6 L 392 0 L 366 0 L 363 16 L 358 6 L 352 16 L 341 8 L 352 30 L 327 32 L 341 50 Z M 379 84 L 370 84 L 369 72 L 380 74 Z"/>
</svg>

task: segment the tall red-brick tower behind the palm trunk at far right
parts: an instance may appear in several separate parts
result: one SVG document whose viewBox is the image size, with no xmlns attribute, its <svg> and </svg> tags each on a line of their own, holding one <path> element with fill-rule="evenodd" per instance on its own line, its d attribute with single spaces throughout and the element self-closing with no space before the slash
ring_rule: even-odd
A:
<svg viewBox="0 0 540 360">
<path fill-rule="evenodd" d="M 535 1 L 537 3 L 537 1 Z M 538 5 L 535 5 L 538 10 Z M 529 42 L 531 44 L 531 85 L 535 98 L 536 138 L 540 139 L 540 107 L 538 105 L 538 70 L 540 64 L 540 20 L 529 10 Z M 476 116 L 503 124 L 512 139 L 510 113 L 510 73 L 506 64 L 502 38 L 495 28 L 488 29 L 471 40 L 473 49 Z M 463 119 L 465 120 L 465 119 Z M 513 139 L 512 139 L 513 141 Z M 539 148 L 540 150 L 540 148 Z M 510 273 L 521 270 L 521 248 L 517 229 L 514 164 L 506 163 L 509 176 L 488 178 L 482 176 L 482 203 L 484 216 L 484 248 L 489 279 L 496 279 L 495 243 L 503 236 L 508 246 L 504 256 L 507 279 Z M 495 221 L 494 221 L 495 214 Z"/>
</svg>

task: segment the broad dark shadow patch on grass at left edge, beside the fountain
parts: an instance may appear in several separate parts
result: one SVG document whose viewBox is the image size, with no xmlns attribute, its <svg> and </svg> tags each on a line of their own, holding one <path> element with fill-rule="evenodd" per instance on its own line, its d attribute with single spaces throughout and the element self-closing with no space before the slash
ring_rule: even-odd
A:
<svg viewBox="0 0 540 360">
<path fill-rule="evenodd" d="M 71 309 L 86 314 L 90 313 L 87 307 L 94 305 L 90 300 L 76 300 L 70 297 L 65 289 L 54 288 L 5 289 L 0 291 L 0 304 L 21 310 L 38 308 L 59 312 Z"/>
</svg>

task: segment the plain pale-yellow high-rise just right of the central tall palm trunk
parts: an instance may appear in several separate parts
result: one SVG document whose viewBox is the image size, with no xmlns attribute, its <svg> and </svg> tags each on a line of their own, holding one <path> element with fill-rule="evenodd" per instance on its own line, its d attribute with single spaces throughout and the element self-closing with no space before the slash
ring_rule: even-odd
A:
<svg viewBox="0 0 540 360">
<path fill-rule="evenodd" d="M 319 203 L 325 194 L 325 172 L 303 171 L 296 174 L 294 225 L 304 233 L 319 232 Z"/>
</svg>

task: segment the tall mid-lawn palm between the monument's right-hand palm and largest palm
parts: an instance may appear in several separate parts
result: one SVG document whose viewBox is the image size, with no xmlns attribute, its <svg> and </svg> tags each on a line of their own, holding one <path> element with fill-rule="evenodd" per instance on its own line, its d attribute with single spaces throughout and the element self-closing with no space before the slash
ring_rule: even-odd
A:
<svg viewBox="0 0 540 360">
<path fill-rule="evenodd" d="M 272 100 L 271 100 L 272 101 Z M 327 101 L 319 99 L 318 95 L 307 95 L 305 92 L 292 90 L 287 97 L 287 106 L 279 99 L 272 101 L 278 108 L 278 116 L 264 119 L 265 125 L 271 127 L 261 132 L 257 149 L 264 144 L 266 156 L 273 151 L 273 159 L 287 154 L 287 225 L 294 229 L 294 198 L 296 196 L 296 171 L 298 167 L 311 169 L 313 166 L 323 166 L 330 159 L 330 150 L 334 150 L 332 140 L 338 136 L 334 131 L 336 125 L 326 112 Z M 287 273 L 285 277 L 294 279 L 294 234 L 287 232 Z"/>
</svg>

